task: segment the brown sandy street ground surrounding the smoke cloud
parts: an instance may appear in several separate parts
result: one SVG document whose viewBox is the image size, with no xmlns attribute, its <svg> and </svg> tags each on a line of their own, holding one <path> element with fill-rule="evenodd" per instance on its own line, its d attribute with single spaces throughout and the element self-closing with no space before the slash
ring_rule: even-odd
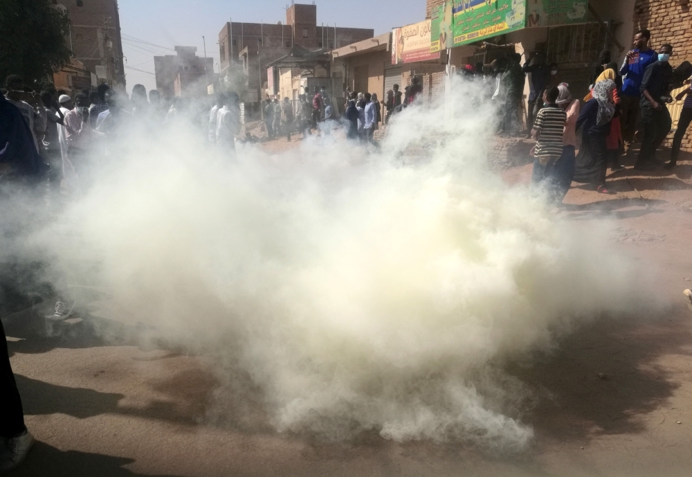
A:
<svg viewBox="0 0 692 477">
<path fill-rule="evenodd" d="M 263 147 L 299 143 L 281 139 Z M 692 157 L 684 159 L 675 174 L 616 172 L 610 196 L 579 187 L 567 195 L 559 214 L 614 222 L 612 241 L 641 260 L 670 305 L 658 316 L 597 320 L 553 354 L 512 371 L 538 397 L 524 418 L 536 442 L 521 455 L 397 444 L 378 435 L 324 444 L 248 431 L 242 415 L 230 419 L 235 424 L 213 425 L 210 358 L 139 348 L 137 330 L 109 318 L 98 292 L 85 289 L 89 314 L 64 323 L 58 338 L 41 337 L 30 312 L 3 319 L 26 422 L 38 440 L 11 475 L 687 476 L 692 314 L 682 290 L 692 287 Z M 524 183 L 531 165 L 502 174 Z"/>
</svg>

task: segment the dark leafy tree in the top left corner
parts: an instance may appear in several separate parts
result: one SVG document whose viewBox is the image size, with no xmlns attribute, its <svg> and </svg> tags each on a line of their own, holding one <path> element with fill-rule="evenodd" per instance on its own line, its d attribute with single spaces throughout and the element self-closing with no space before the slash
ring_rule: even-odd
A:
<svg viewBox="0 0 692 477">
<path fill-rule="evenodd" d="M 0 81 L 46 82 L 70 61 L 71 21 L 51 0 L 0 0 Z"/>
</svg>

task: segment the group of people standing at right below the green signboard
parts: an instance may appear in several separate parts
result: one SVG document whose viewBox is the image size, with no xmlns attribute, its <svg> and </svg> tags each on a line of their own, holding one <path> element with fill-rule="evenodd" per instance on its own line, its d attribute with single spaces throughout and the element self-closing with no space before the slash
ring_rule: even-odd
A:
<svg viewBox="0 0 692 477">
<path fill-rule="evenodd" d="M 501 133 L 518 129 L 515 120 L 521 110 L 524 75 L 531 73 L 527 125 L 530 135 L 537 140 L 532 151 L 533 180 L 547 181 L 558 201 L 562 201 L 573 180 L 593 184 L 597 192 L 610 193 L 606 185 L 608 167 L 624 167 L 620 157 L 632 154 L 637 133 L 641 147 L 635 170 L 657 167 L 655 152 L 672 127 L 666 104 L 673 101 L 673 89 L 687 84 L 675 98 L 684 99 L 684 105 L 669 160 L 663 167 L 671 170 L 677 165 L 682 139 L 692 122 L 692 65 L 682 62 L 673 69 L 668 62 L 673 46 L 662 44 L 654 51 L 648 46 L 650 38 L 648 30 L 637 31 L 634 48 L 628 51 L 621 66 L 611 61 L 610 51 L 601 52 L 583 105 L 572 98 L 568 84 L 552 80 L 557 66 L 546 64 L 542 53 L 531 55 L 523 67 L 519 66 L 520 55 L 516 53 L 491 64 L 496 72 L 493 100 L 502 102 Z M 578 129 L 581 146 L 577 156 Z"/>
</svg>

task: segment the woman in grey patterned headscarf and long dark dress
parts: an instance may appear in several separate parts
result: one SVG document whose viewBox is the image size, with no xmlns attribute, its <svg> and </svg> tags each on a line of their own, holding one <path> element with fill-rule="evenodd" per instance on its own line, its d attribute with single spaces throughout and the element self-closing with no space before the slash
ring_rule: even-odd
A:
<svg viewBox="0 0 692 477">
<path fill-rule="evenodd" d="M 583 130 L 574 181 L 595 184 L 601 194 L 610 193 L 605 188 L 605 172 L 608 170 L 606 139 L 615 114 L 614 91 L 612 80 L 597 82 L 592 91 L 593 98 L 584 105 L 576 120 L 576 129 L 583 127 Z"/>
</svg>

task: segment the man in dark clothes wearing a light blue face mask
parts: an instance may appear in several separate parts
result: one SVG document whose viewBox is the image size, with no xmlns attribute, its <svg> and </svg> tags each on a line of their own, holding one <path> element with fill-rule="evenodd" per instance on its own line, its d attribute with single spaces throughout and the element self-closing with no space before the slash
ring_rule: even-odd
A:
<svg viewBox="0 0 692 477">
<path fill-rule="evenodd" d="M 671 84 L 673 67 L 668 59 L 673 53 L 673 46 L 664 44 L 659 48 L 658 60 L 651 64 L 641 80 L 641 120 L 644 123 L 644 138 L 641 139 L 641 150 L 635 163 L 641 169 L 654 160 L 657 148 L 671 132 L 673 121 L 666 102 L 671 102 Z"/>
</svg>

